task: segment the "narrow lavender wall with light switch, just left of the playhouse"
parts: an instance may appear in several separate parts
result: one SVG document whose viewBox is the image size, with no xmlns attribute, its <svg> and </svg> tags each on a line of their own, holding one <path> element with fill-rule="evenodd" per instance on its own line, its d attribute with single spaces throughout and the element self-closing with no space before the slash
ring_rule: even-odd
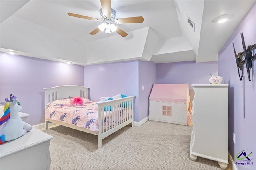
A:
<svg viewBox="0 0 256 170">
<path fill-rule="evenodd" d="M 149 116 L 149 95 L 156 83 L 156 63 L 139 61 L 139 120 Z M 144 90 L 142 90 L 144 86 Z"/>
</svg>

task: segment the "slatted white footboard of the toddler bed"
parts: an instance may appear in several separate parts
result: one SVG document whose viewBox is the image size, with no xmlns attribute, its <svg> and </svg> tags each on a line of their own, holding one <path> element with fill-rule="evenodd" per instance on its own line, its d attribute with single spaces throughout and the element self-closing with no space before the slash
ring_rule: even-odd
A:
<svg viewBox="0 0 256 170">
<path fill-rule="evenodd" d="M 118 131 L 122 127 L 134 124 L 134 97 L 108 100 L 98 105 L 98 149 L 102 147 L 102 139 Z"/>
</svg>

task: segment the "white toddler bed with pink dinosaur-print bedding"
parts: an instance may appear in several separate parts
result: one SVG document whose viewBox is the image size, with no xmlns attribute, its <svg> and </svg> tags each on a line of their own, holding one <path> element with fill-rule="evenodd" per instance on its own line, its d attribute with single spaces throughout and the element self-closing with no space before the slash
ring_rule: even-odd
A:
<svg viewBox="0 0 256 170">
<path fill-rule="evenodd" d="M 50 122 L 84 131 L 98 136 L 98 149 L 102 139 L 131 124 L 133 127 L 135 96 L 92 102 L 88 99 L 88 89 L 83 86 L 57 86 L 45 89 L 45 129 Z M 70 103 L 71 97 L 79 96 L 82 106 Z M 98 105 L 98 110 L 94 105 Z"/>
</svg>

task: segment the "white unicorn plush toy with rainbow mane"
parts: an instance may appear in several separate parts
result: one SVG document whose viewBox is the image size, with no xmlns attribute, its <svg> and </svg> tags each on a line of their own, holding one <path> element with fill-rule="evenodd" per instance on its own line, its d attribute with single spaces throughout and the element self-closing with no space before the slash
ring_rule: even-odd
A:
<svg viewBox="0 0 256 170">
<path fill-rule="evenodd" d="M 0 129 L 0 144 L 5 141 L 11 141 L 25 135 L 32 129 L 32 126 L 20 118 L 18 112 L 22 111 L 20 102 L 16 96 L 10 96 L 10 100 L 5 98 L 7 102 L 4 106 L 4 115 L 0 119 L 0 125 L 5 123 Z"/>
</svg>

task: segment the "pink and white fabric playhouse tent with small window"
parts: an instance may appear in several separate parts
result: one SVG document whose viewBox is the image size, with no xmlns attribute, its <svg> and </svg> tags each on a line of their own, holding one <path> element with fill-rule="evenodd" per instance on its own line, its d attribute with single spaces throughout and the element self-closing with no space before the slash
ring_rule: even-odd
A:
<svg viewBox="0 0 256 170">
<path fill-rule="evenodd" d="M 150 120 L 192 125 L 188 84 L 154 84 L 149 99 Z"/>
</svg>

